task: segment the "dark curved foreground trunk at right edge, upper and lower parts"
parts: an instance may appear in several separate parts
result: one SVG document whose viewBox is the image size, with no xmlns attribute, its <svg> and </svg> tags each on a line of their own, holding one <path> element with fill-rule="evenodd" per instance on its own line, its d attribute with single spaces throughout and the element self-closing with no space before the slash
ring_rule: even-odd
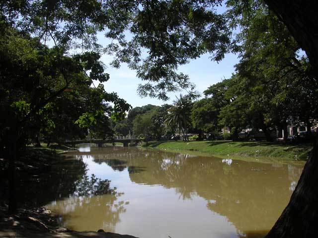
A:
<svg viewBox="0 0 318 238">
<path fill-rule="evenodd" d="M 318 77 L 318 1 L 264 0 L 306 52 Z M 318 142 L 290 202 L 266 238 L 318 237 Z"/>
</svg>

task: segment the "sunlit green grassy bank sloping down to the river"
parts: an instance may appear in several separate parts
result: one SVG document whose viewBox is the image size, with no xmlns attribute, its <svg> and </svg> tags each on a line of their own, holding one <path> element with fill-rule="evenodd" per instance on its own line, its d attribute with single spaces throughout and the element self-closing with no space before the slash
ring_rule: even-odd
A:
<svg viewBox="0 0 318 238">
<path fill-rule="evenodd" d="M 311 143 L 292 144 L 263 141 L 150 141 L 141 146 L 263 163 L 306 161 L 313 147 Z"/>
</svg>

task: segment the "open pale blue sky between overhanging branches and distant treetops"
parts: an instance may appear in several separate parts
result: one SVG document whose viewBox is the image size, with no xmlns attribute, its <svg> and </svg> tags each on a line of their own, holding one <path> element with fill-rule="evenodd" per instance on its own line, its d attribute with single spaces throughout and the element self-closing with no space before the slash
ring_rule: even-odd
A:
<svg viewBox="0 0 318 238">
<path fill-rule="evenodd" d="M 110 57 L 103 56 L 101 60 L 108 65 Z M 209 55 L 192 60 L 188 64 L 181 65 L 179 71 L 188 74 L 191 82 L 196 85 L 196 90 L 201 94 L 210 85 L 231 77 L 234 73 L 234 65 L 239 62 L 234 54 L 227 54 L 225 59 L 217 63 L 209 59 Z M 171 103 L 180 92 L 169 93 L 170 100 L 164 102 L 156 98 L 141 98 L 137 95 L 138 84 L 143 83 L 136 77 L 136 72 L 122 64 L 119 69 L 108 67 L 106 72 L 110 74 L 110 80 L 104 84 L 107 92 L 117 92 L 118 96 L 125 99 L 133 107 L 140 107 L 147 104 L 162 105 Z M 184 94 L 184 91 L 181 92 Z"/>
</svg>

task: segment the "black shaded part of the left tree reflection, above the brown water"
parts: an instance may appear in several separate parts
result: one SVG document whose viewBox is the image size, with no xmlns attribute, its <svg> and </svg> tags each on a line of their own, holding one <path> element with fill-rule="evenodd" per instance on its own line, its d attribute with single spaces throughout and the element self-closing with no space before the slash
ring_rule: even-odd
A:
<svg viewBox="0 0 318 238">
<path fill-rule="evenodd" d="M 39 175 L 19 175 L 18 202 L 23 207 L 37 207 L 71 196 L 115 194 L 110 180 L 86 175 L 82 160 L 66 159 L 55 163 L 51 171 Z"/>
</svg>

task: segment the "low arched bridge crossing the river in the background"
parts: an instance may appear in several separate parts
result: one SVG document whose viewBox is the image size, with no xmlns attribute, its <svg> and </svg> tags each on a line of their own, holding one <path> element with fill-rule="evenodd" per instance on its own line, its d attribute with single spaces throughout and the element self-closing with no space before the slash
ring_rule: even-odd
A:
<svg viewBox="0 0 318 238">
<path fill-rule="evenodd" d="M 103 144 L 106 143 L 123 143 L 124 147 L 128 146 L 128 143 L 138 143 L 141 139 L 136 138 L 135 136 L 116 136 L 114 138 L 109 139 L 83 139 L 83 140 L 73 140 L 73 141 L 66 141 L 66 145 L 71 145 L 75 147 L 79 144 L 96 144 L 98 147 L 102 147 Z"/>
</svg>

